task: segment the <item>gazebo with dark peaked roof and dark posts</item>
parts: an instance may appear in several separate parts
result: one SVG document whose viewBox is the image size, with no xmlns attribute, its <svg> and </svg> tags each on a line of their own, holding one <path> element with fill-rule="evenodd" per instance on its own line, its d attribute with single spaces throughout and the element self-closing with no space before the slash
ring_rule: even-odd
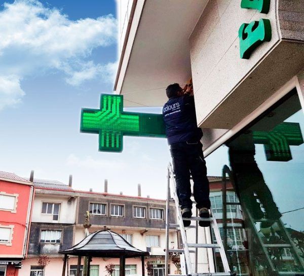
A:
<svg viewBox="0 0 304 276">
<path fill-rule="evenodd" d="M 149 253 L 130 245 L 121 235 L 109 231 L 99 230 L 85 237 L 79 244 L 71 248 L 60 250 L 64 254 L 62 276 L 65 275 L 68 255 L 78 256 L 77 276 L 80 276 L 81 257 L 88 258 L 88 273 L 90 276 L 91 257 L 120 258 L 120 276 L 125 275 L 126 258 L 141 257 L 142 275 L 144 276 L 144 256 Z"/>
</svg>

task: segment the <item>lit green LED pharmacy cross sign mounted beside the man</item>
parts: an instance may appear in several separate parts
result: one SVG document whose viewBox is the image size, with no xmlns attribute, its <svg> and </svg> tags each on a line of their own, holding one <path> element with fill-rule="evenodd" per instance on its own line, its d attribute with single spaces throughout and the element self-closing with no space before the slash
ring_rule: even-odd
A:
<svg viewBox="0 0 304 276">
<path fill-rule="evenodd" d="M 99 150 L 122 152 L 123 136 L 166 137 L 162 114 L 124 112 L 123 96 L 101 94 L 100 109 L 82 109 L 81 132 L 99 134 Z"/>
</svg>

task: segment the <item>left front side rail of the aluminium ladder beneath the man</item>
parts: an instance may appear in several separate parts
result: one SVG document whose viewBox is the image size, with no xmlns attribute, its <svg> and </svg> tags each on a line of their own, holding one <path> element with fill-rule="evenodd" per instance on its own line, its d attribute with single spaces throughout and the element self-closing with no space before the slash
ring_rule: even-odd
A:
<svg viewBox="0 0 304 276">
<path fill-rule="evenodd" d="M 181 239 L 182 239 L 183 249 L 184 249 L 184 255 L 185 255 L 185 259 L 186 259 L 187 274 L 194 274 L 194 270 L 192 268 L 192 263 L 191 263 L 191 258 L 190 258 L 190 253 L 189 253 L 189 248 L 188 248 L 188 244 L 187 244 L 186 232 L 185 232 L 185 229 L 183 226 L 181 212 L 180 212 L 179 203 L 178 203 L 176 182 L 175 182 L 174 173 L 173 173 L 171 164 L 169 164 L 169 172 L 170 172 L 170 184 L 171 184 L 175 208 L 176 208 L 176 215 L 177 215 L 177 220 L 179 223 L 180 234 L 181 234 Z"/>
</svg>

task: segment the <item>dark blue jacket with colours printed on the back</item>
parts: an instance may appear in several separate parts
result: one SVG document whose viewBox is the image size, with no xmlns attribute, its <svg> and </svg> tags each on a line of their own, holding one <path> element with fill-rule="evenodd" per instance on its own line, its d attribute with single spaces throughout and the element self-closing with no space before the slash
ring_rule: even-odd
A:
<svg viewBox="0 0 304 276">
<path fill-rule="evenodd" d="M 168 144 L 197 142 L 203 136 L 197 126 L 194 97 L 183 95 L 171 97 L 163 107 Z"/>
</svg>

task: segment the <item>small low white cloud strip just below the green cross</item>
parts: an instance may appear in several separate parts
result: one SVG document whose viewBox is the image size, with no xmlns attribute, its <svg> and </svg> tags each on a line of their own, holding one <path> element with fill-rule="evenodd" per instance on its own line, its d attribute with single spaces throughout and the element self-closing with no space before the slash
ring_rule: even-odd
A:
<svg viewBox="0 0 304 276">
<path fill-rule="evenodd" d="M 81 159 L 74 154 L 70 154 L 66 158 L 66 164 L 69 166 L 76 166 L 80 168 L 86 169 L 94 169 L 94 170 L 101 170 L 101 169 L 121 169 L 126 167 L 126 163 L 113 161 L 113 160 L 105 160 L 105 159 L 94 159 L 91 156 L 86 156 L 85 158 Z"/>
</svg>

